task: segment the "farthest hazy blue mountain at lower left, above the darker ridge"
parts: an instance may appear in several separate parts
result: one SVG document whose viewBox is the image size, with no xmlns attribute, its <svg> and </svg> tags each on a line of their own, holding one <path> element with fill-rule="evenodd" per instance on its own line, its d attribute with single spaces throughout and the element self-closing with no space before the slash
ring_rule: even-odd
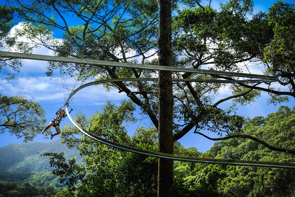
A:
<svg viewBox="0 0 295 197">
<path fill-rule="evenodd" d="M 22 173 L 51 171 L 48 158 L 40 156 L 45 152 L 64 152 L 66 158 L 76 157 L 77 162 L 81 162 L 77 149 L 69 149 L 60 139 L 49 143 L 10 144 L 0 147 L 0 171 Z"/>
</svg>

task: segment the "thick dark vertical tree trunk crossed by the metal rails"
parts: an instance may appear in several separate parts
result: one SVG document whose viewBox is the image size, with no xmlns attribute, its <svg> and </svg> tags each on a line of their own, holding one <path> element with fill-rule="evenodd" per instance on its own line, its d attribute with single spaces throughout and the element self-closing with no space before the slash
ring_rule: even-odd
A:
<svg viewBox="0 0 295 197">
<path fill-rule="evenodd" d="M 171 66 L 171 1 L 159 0 L 159 65 Z M 171 72 L 159 71 L 159 152 L 173 154 Z M 173 161 L 158 161 L 158 197 L 171 197 Z"/>
</svg>

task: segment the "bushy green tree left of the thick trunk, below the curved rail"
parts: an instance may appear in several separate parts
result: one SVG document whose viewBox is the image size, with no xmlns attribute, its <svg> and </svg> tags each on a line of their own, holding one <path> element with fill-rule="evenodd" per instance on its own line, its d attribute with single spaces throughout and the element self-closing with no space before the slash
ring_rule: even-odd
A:
<svg viewBox="0 0 295 197">
<path fill-rule="evenodd" d="M 89 119 L 89 131 L 106 139 L 129 146 L 155 151 L 157 149 L 156 130 L 139 128 L 133 138 L 127 135 L 123 124 L 132 122 L 130 102 L 121 106 L 107 103 L 101 113 Z M 80 117 L 80 116 L 79 116 Z M 101 129 L 101 119 L 109 119 Z M 77 117 L 76 117 L 77 118 Z M 65 127 L 69 129 L 69 126 Z M 108 131 L 108 132 L 105 132 Z M 63 140 L 73 142 L 68 135 Z M 82 196 L 154 196 L 156 194 L 157 160 L 155 158 L 121 151 L 98 143 L 83 136 L 73 142 L 84 156 L 84 165 L 79 165 L 74 158 L 68 161 L 63 154 L 45 153 L 50 156 L 53 174 L 61 177 L 69 190 L 77 190 Z"/>
</svg>

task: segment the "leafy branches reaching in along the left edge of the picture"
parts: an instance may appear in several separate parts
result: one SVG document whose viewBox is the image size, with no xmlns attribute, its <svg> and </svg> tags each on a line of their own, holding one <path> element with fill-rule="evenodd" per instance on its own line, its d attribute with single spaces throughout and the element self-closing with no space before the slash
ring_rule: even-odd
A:
<svg viewBox="0 0 295 197">
<path fill-rule="evenodd" d="M 26 44 L 19 43 L 15 46 L 15 37 L 10 37 L 9 31 L 14 25 L 17 7 L 0 6 L 1 25 L 0 25 L 0 46 L 16 47 L 17 49 L 27 48 Z M 9 66 L 12 70 L 20 72 L 21 63 L 18 59 L 4 58 L 0 59 L 0 71 L 5 70 L 5 66 Z M 11 80 L 14 74 L 7 73 L 6 79 Z M 6 96 L 0 94 L 0 133 L 6 131 L 15 135 L 17 138 L 24 137 L 24 142 L 32 141 L 33 138 L 44 127 L 45 118 L 44 110 L 38 103 L 24 99 L 21 96 Z"/>
</svg>

